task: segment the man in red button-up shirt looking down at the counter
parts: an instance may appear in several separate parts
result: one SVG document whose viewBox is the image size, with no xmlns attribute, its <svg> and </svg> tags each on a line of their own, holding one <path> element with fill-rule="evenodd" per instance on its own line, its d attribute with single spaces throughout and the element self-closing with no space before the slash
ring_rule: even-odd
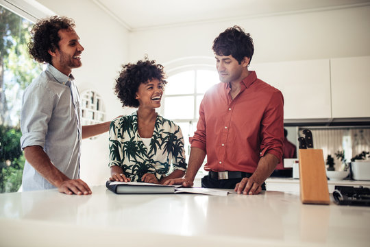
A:
<svg viewBox="0 0 370 247">
<path fill-rule="evenodd" d="M 254 45 L 240 27 L 219 34 L 212 49 L 221 83 L 201 102 L 186 175 L 166 184 L 192 187 L 207 155 L 202 187 L 257 194 L 282 158 L 284 99 L 248 70 Z"/>
</svg>

